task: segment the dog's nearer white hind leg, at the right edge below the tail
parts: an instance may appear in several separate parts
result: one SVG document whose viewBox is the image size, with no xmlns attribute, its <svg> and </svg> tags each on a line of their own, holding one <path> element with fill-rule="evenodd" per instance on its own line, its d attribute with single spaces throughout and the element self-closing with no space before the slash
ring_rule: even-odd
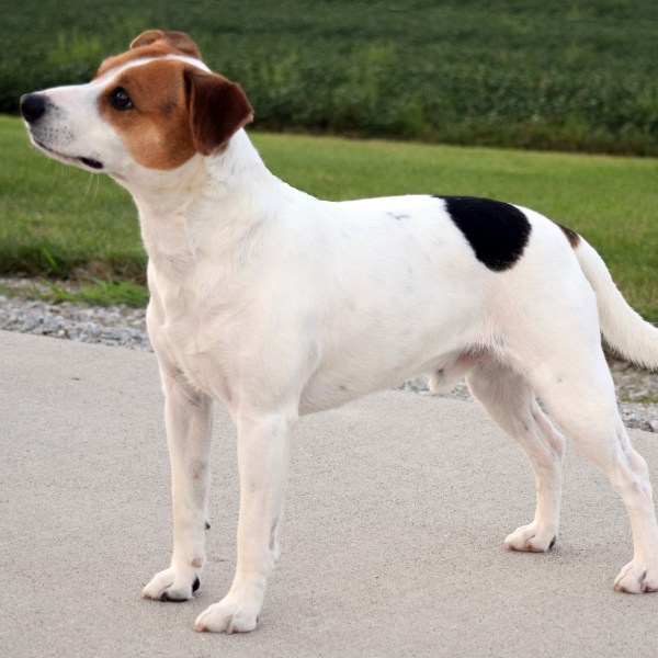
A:
<svg viewBox="0 0 658 658">
<path fill-rule="evenodd" d="M 565 293 L 566 294 L 566 293 Z M 580 316 L 566 313 L 534 318 L 509 353 L 544 404 L 548 415 L 610 479 L 621 496 L 633 531 L 633 560 L 614 587 L 626 592 L 658 590 L 658 525 L 648 468 L 633 449 L 616 406 L 605 362 L 594 300 L 579 300 Z M 571 319 L 572 318 L 572 319 Z"/>
</svg>

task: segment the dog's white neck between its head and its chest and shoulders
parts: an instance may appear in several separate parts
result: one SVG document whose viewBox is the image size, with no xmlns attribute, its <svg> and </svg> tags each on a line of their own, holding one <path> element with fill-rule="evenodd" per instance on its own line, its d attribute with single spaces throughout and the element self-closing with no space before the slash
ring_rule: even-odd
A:
<svg viewBox="0 0 658 658">
<path fill-rule="evenodd" d="M 118 182 L 139 209 L 151 265 L 178 281 L 205 253 L 214 259 L 238 254 L 240 242 L 263 224 L 281 190 L 288 189 L 266 169 L 243 129 L 219 154 Z"/>
</svg>

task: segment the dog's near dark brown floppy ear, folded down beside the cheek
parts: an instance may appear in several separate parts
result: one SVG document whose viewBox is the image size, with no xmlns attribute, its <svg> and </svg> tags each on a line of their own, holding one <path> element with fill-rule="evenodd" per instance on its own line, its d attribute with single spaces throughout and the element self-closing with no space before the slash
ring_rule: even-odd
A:
<svg viewBox="0 0 658 658">
<path fill-rule="evenodd" d="M 217 152 L 253 121 L 253 109 L 239 84 L 193 68 L 185 69 L 185 84 L 192 139 L 202 156 Z"/>
</svg>

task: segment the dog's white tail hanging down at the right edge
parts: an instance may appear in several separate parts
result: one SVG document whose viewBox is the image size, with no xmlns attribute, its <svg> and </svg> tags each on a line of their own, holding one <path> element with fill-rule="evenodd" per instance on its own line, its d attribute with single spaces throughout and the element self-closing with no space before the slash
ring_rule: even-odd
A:
<svg viewBox="0 0 658 658">
<path fill-rule="evenodd" d="M 569 234 L 580 268 L 597 294 L 605 341 L 621 356 L 651 370 L 658 368 L 658 329 L 631 308 L 594 248 L 577 234 Z"/>
</svg>

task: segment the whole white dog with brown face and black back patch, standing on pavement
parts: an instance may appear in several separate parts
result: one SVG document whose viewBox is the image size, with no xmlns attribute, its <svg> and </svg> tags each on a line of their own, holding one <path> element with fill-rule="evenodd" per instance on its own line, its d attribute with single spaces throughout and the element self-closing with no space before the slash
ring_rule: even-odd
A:
<svg viewBox="0 0 658 658">
<path fill-rule="evenodd" d="M 527 454 L 534 520 L 506 540 L 557 537 L 563 436 L 610 478 L 633 527 L 615 580 L 658 590 L 658 529 L 644 460 L 617 413 L 601 334 L 658 366 L 658 330 L 632 310 L 597 252 L 532 211 L 472 197 L 329 203 L 265 169 L 242 90 L 194 43 L 150 31 L 88 84 L 21 99 L 32 141 L 133 194 L 148 251 L 149 334 L 166 395 L 173 557 L 143 597 L 190 599 L 207 526 L 212 400 L 238 429 L 235 579 L 197 631 L 251 631 L 277 555 L 290 436 L 299 415 L 429 374 L 466 377 Z M 313 166 L 313 163 L 309 163 Z"/>
</svg>

